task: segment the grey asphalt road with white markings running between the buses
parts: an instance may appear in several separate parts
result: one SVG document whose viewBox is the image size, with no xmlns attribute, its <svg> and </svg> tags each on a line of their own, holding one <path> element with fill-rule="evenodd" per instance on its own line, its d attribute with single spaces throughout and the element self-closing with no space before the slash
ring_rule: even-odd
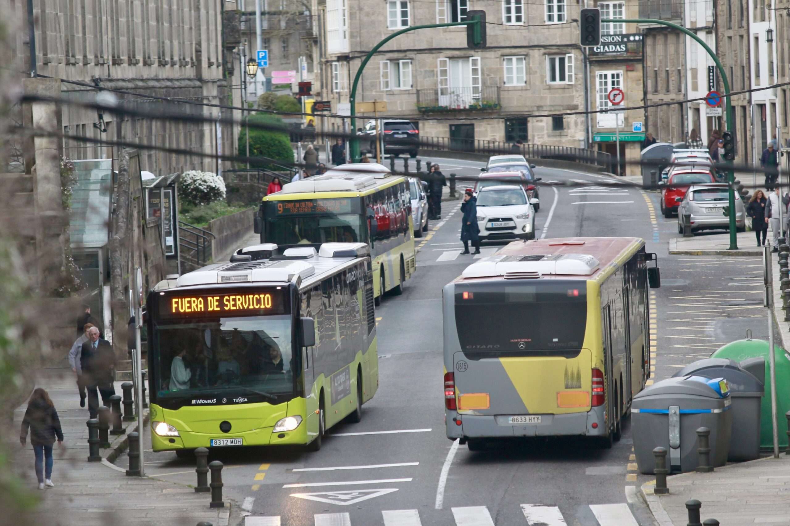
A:
<svg viewBox="0 0 790 526">
<path fill-rule="evenodd" d="M 479 173 L 482 166 L 431 160 L 446 175 Z M 654 347 L 660 349 L 653 358 L 655 379 L 743 338 L 747 328 L 755 338 L 766 335 L 764 312 L 754 303 L 760 300 L 757 259 L 669 258 L 667 241 L 678 235 L 676 220 L 660 216 L 658 194 L 570 170 L 538 168 L 536 175 L 545 184 L 538 237 L 643 237 L 658 254 L 663 287 L 651 304 Z M 567 181 L 587 185 L 562 185 Z M 627 423 L 611 450 L 581 439 L 533 439 L 471 453 L 446 438 L 442 286 L 475 257 L 460 255 L 459 207 L 460 201 L 443 203 L 442 221 L 432 222 L 431 232 L 417 240 L 418 271 L 404 294 L 387 297 L 377 309 L 380 387 L 364 405 L 361 423 L 329 430 L 318 453 L 212 452 L 212 460 L 226 465 L 226 495 L 249 514 L 246 526 L 653 524 L 634 498 L 650 477 L 635 472 Z M 483 244 L 480 256 L 499 246 Z M 194 464 L 173 453 L 149 453 L 146 469 L 172 481 L 195 480 Z"/>
</svg>

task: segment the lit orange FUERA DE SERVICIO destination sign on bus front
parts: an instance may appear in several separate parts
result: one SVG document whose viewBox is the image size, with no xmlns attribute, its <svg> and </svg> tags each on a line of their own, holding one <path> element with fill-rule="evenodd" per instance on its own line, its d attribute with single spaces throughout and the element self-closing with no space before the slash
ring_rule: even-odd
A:
<svg viewBox="0 0 790 526">
<path fill-rule="evenodd" d="M 237 292 L 160 296 L 160 316 L 187 318 L 224 315 L 271 315 L 284 311 L 282 293 Z"/>
</svg>

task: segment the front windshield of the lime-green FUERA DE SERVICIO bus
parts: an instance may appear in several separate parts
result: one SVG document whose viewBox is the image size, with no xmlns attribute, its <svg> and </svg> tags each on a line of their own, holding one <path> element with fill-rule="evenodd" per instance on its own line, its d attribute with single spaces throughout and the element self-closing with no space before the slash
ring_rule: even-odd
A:
<svg viewBox="0 0 790 526">
<path fill-rule="evenodd" d="M 157 397 L 292 394 L 290 315 L 185 321 L 154 327 Z"/>
</svg>

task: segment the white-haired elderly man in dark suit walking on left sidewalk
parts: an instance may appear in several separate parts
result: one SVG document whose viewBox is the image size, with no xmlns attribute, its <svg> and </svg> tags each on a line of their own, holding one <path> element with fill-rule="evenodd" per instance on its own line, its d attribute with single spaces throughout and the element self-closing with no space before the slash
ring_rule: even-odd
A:
<svg viewBox="0 0 790 526">
<path fill-rule="evenodd" d="M 99 416 L 99 394 L 102 404 L 107 407 L 110 406 L 110 397 L 115 394 L 115 353 L 109 341 L 99 338 L 99 329 L 95 326 L 88 329 L 88 341 L 82 344 L 80 362 L 88 389 L 88 412 L 91 418 L 96 418 Z"/>
</svg>

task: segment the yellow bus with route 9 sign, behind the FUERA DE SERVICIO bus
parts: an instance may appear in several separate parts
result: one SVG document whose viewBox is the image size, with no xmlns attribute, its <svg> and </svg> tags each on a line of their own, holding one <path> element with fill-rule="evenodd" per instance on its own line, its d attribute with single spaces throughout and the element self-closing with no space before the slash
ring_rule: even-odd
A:
<svg viewBox="0 0 790 526">
<path fill-rule="evenodd" d="M 261 243 L 282 249 L 329 242 L 371 247 L 375 303 L 403 293 L 416 270 L 408 178 L 377 163 L 337 166 L 263 198 L 255 218 Z"/>
</svg>

